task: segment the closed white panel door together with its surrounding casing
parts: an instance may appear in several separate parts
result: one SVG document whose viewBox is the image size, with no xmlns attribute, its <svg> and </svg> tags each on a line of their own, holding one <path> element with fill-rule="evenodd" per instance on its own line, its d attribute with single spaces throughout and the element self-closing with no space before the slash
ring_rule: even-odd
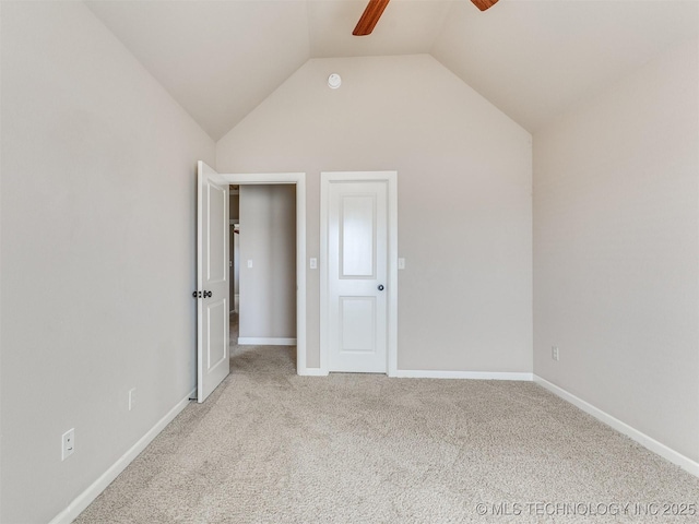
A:
<svg viewBox="0 0 699 524">
<path fill-rule="evenodd" d="M 321 174 L 327 371 L 395 373 L 396 202 L 395 171 Z"/>
</svg>

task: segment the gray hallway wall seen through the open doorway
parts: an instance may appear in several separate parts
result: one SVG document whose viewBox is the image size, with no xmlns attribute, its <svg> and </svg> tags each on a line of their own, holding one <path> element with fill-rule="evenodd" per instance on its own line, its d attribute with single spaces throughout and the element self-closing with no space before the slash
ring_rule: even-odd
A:
<svg viewBox="0 0 699 524">
<path fill-rule="evenodd" d="M 239 336 L 296 337 L 296 186 L 240 186 L 239 243 Z"/>
</svg>

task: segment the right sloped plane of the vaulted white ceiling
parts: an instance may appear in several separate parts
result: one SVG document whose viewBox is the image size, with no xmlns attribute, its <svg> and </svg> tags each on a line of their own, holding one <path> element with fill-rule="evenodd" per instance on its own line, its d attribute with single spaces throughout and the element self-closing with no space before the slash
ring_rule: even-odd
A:
<svg viewBox="0 0 699 524">
<path fill-rule="evenodd" d="M 454 5 L 433 56 L 530 132 L 699 34 L 696 0 L 467 7 Z"/>
</svg>

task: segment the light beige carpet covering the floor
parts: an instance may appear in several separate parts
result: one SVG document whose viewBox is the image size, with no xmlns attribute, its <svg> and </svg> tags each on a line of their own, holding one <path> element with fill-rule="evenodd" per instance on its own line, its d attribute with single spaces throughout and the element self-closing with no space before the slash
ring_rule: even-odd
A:
<svg viewBox="0 0 699 524">
<path fill-rule="evenodd" d="M 699 521 L 663 507 L 699 511 L 698 478 L 533 383 L 305 378 L 294 358 L 237 348 L 75 522 Z"/>
</svg>

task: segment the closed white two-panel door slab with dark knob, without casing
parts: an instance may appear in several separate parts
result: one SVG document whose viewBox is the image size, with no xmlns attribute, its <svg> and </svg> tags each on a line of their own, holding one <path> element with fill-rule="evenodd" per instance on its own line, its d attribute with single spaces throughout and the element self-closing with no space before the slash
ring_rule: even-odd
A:
<svg viewBox="0 0 699 524">
<path fill-rule="evenodd" d="M 388 182 L 332 181 L 328 196 L 329 371 L 386 373 Z"/>
</svg>

